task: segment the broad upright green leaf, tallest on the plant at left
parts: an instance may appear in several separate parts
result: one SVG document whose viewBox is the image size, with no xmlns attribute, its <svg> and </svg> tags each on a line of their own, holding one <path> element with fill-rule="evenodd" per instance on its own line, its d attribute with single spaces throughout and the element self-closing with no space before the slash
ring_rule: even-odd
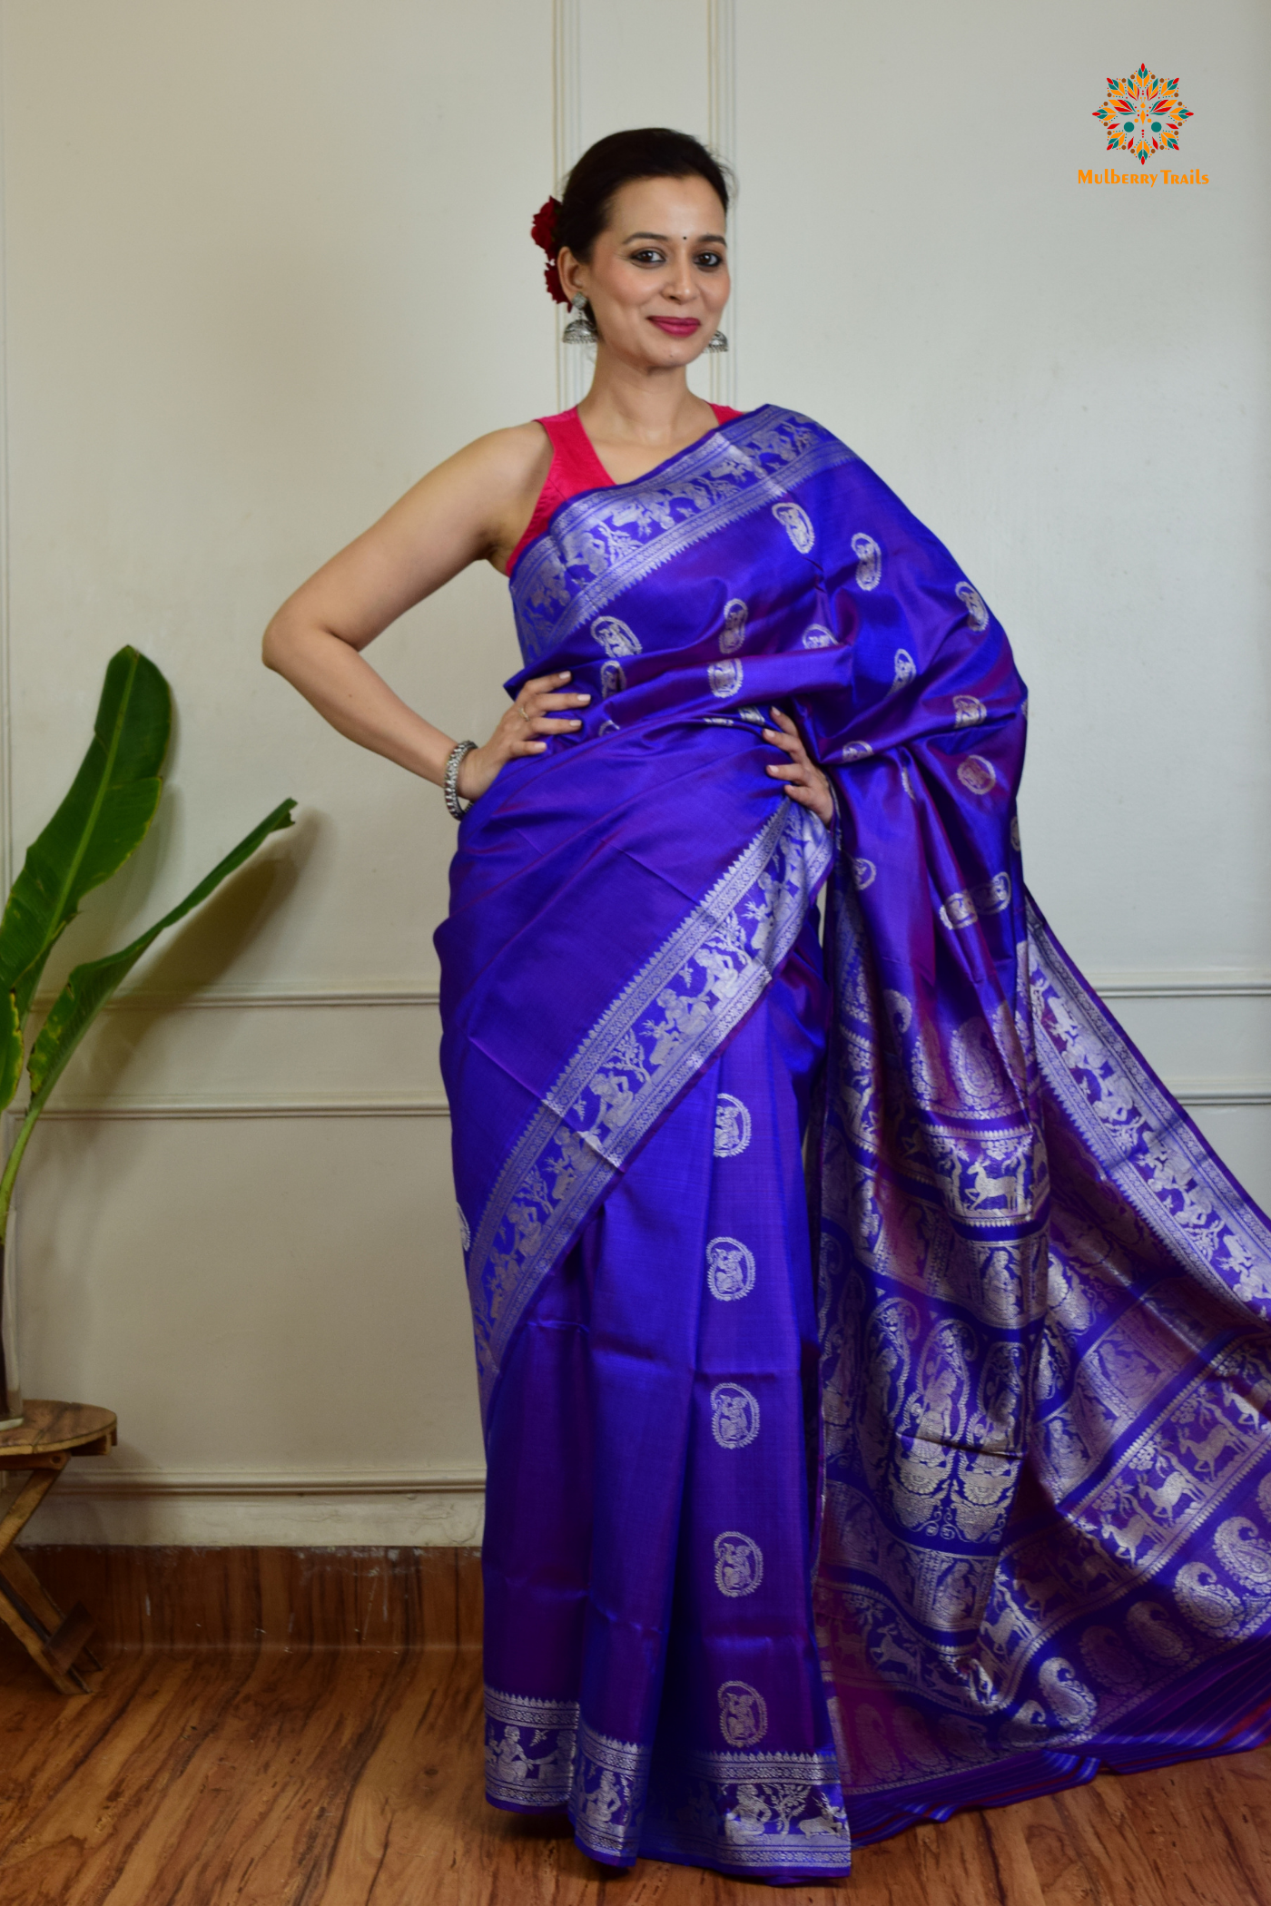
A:
<svg viewBox="0 0 1271 1906">
<path fill-rule="evenodd" d="M 88 755 L 57 814 L 27 850 L 0 919 L 0 989 L 13 993 L 17 1006 L 19 1071 L 21 1027 L 57 938 L 84 894 L 124 865 L 154 820 L 170 732 L 168 682 L 139 650 L 120 648 L 107 665 Z M 13 1033 L 0 1027 L 0 1037 L 6 1031 L 0 1085 L 13 1071 Z"/>
</svg>

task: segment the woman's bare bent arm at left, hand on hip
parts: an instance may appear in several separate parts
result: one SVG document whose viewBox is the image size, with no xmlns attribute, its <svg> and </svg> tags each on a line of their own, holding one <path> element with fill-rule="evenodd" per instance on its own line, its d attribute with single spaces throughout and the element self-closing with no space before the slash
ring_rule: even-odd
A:
<svg viewBox="0 0 1271 1906">
<path fill-rule="evenodd" d="M 501 566 L 547 476 L 551 446 L 537 423 L 494 431 L 438 463 L 414 490 L 288 597 L 265 631 L 276 669 L 333 728 L 440 785 L 450 736 L 410 709 L 362 650 L 469 562 Z M 568 677 L 526 684 L 490 741 L 463 760 L 459 791 L 476 799 L 513 755 L 541 753 L 541 738 L 577 726 L 556 711 L 587 696 Z"/>
</svg>

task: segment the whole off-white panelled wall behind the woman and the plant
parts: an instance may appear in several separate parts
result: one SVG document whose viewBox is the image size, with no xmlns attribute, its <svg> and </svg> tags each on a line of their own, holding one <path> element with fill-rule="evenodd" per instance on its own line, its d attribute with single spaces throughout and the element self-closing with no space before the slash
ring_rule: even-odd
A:
<svg viewBox="0 0 1271 1906">
<path fill-rule="evenodd" d="M 139 976 L 168 1004 L 109 1016 L 32 1146 L 25 1386 L 122 1430 L 32 1534 L 478 1527 L 431 997 L 452 825 L 257 642 L 419 471 L 574 395 L 526 227 L 617 124 L 730 149 L 713 389 L 833 425 L 1002 616 L 1033 690 L 1033 890 L 1271 1197 L 1265 8 L 0 0 L 0 21 L 8 839 L 21 856 L 61 795 L 126 640 L 177 696 L 166 816 L 69 955 L 282 795 L 303 808 Z M 1180 74 L 1176 168 L 1208 187 L 1077 183 L 1103 164 L 1105 74 L 1140 59 Z M 499 578 L 375 659 L 480 734 L 516 665 Z"/>
</svg>

